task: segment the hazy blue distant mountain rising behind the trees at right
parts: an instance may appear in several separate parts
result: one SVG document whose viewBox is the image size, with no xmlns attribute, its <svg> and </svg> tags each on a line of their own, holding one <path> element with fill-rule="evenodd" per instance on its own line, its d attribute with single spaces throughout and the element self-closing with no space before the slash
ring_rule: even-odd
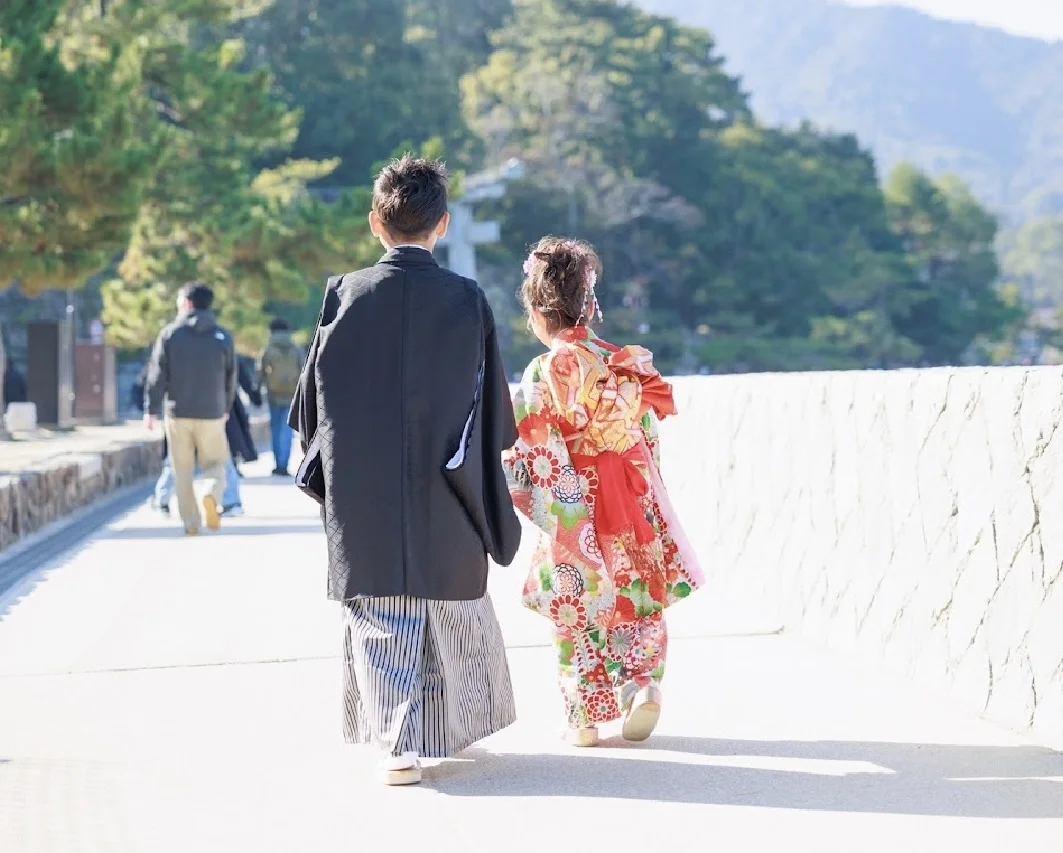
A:
<svg viewBox="0 0 1063 853">
<path fill-rule="evenodd" d="M 1063 43 L 832 0 L 637 4 L 710 30 L 767 121 L 955 172 L 1010 219 L 1063 213 Z"/>
</svg>

